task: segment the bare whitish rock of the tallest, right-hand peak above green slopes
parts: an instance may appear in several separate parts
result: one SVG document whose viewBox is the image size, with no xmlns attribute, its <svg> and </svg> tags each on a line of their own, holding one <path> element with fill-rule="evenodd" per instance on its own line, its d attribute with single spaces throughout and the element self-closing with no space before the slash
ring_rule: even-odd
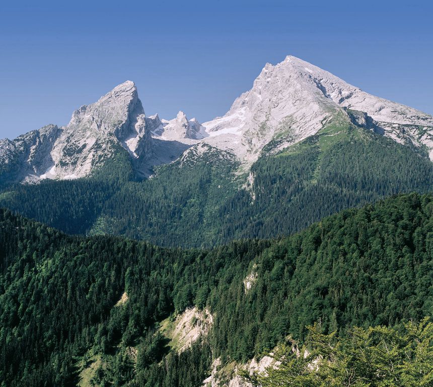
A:
<svg viewBox="0 0 433 387">
<path fill-rule="evenodd" d="M 359 117 L 353 119 L 353 115 Z M 242 161 L 263 147 L 297 143 L 338 119 L 355 121 L 401 143 L 426 146 L 433 159 L 433 117 L 370 95 L 304 60 L 287 56 L 267 63 L 253 88 L 223 116 L 204 122 L 209 144 L 231 150 Z"/>
</svg>

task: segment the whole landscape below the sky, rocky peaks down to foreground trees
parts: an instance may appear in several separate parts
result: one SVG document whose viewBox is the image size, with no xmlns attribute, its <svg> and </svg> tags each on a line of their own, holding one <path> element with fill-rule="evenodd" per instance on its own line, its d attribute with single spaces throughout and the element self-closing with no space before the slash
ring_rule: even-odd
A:
<svg viewBox="0 0 433 387">
<path fill-rule="evenodd" d="M 208 122 L 127 81 L 0 140 L 1 387 L 431 385 L 432 136 L 287 56 Z"/>
</svg>

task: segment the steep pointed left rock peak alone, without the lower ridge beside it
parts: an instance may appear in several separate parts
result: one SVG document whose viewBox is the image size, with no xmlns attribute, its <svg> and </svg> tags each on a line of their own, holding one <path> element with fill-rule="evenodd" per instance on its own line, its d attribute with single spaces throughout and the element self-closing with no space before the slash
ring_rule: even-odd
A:
<svg viewBox="0 0 433 387">
<path fill-rule="evenodd" d="M 132 157 L 150 152 L 150 131 L 133 82 L 115 87 L 96 103 L 81 106 L 51 150 L 53 165 L 41 178 L 77 178 L 110 158 L 116 144 Z"/>
</svg>

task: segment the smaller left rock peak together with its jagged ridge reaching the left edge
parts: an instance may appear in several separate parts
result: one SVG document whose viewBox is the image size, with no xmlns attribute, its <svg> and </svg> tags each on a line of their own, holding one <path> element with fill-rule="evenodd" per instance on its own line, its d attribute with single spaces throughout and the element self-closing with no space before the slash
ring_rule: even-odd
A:
<svg viewBox="0 0 433 387">
<path fill-rule="evenodd" d="M 127 81 L 97 102 L 74 111 L 66 126 L 48 125 L 14 141 L 2 140 L 0 162 L 7 166 L 4 172 L 18 181 L 88 176 L 112 157 L 119 145 L 131 158 L 150 157 L 151 124 L 134 83 Z"/>
</svg>

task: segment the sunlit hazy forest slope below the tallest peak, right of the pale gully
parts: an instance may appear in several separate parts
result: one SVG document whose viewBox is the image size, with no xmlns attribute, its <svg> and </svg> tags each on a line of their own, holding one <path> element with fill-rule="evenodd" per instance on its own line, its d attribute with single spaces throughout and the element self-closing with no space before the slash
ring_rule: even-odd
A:
<svg viewBox="0 0 433 387">
<path fill-rule="evenodd" d="M 292 151 L 259 159 L 251 191 L 240 190 L 221 208 L 222 233 L 287 235 L 345 208 L 433 189 L 433 164 L 409 147 L 352 128 L 329 145 L 326 138 L 313 136 Z"/>
</svg>

